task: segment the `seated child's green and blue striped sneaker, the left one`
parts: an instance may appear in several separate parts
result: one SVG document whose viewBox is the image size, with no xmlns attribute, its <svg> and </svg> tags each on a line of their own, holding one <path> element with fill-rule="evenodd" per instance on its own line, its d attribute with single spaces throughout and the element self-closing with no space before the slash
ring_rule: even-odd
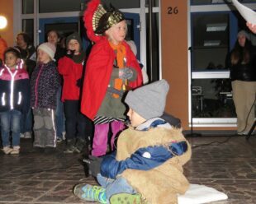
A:
<svg viewBox="0 0 256 204">
<path fill-rule="evenodd" d="M 73 188 L 73 194 L 83 201 L 107 203 L 106 189 L 100 186 L 79 183 Z"/>
</svg>

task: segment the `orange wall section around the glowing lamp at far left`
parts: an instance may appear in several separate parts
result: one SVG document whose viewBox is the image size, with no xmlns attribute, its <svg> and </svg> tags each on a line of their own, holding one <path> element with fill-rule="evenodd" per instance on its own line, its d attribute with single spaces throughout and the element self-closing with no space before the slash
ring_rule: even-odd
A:
<svg viewBox="0 0 256 204">
<path fill-rule="evenodd" d="M 7 27 L 0 30 L 0 35 L 7 41 L 8 46 L 13 46 L 13 0 L 1 0 L 0 8 L 0 15 L 7 18 Z"/>
</svg>

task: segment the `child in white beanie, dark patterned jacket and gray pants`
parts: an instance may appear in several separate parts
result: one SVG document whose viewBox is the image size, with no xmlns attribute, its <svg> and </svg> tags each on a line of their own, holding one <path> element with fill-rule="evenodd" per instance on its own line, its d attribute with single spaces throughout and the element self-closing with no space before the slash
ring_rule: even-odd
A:
<svg viewBox="0 0 256 204">
<path fill-rule="evenodd" d="M 37 48 L 37 65 L 31 76 L 31 107 L 34 114 L 36 151 L 52 152 L 56 147 L 55 109 L 59 73 L 54 56 L 55 44 L 43 43 Z"/>
</svg>

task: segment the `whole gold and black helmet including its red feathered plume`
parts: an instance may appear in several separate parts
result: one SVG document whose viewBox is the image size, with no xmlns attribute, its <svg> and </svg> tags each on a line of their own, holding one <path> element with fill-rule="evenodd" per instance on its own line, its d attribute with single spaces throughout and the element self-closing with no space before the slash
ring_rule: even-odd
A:
<svg viewBox="0 0 256 204">
<path fill-rule="evenodd" d="M 88 38 L 96 42 L 106 30 L 125 20 L 125 16 L 116 8 L 105 9 L 100 0 L 88 2 L 83 21 L 87 29 Z"/>
</svg>

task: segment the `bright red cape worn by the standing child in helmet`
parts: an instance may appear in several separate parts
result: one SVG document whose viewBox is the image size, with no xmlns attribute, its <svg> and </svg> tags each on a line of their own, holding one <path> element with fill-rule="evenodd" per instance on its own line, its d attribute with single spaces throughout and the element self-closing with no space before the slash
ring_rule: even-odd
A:
<svg viewBox="0 0 256 204">
<path fill-rule="evenodd" d="M 136 81 L 130 82 L 129 86 L 136 88 L 142 85 L 141 69 L 130 46 L 125 41 L 123 44 L 126 46 L 126 65 L 135 68 L 137 72 Z M 81 101 L 81 112 L 92 120 L 106 95 L 115 58 L 116 54 L 111 49 L 107 38 L 102 37 L 92 46 L 86 64 Z"/>
</svg>

